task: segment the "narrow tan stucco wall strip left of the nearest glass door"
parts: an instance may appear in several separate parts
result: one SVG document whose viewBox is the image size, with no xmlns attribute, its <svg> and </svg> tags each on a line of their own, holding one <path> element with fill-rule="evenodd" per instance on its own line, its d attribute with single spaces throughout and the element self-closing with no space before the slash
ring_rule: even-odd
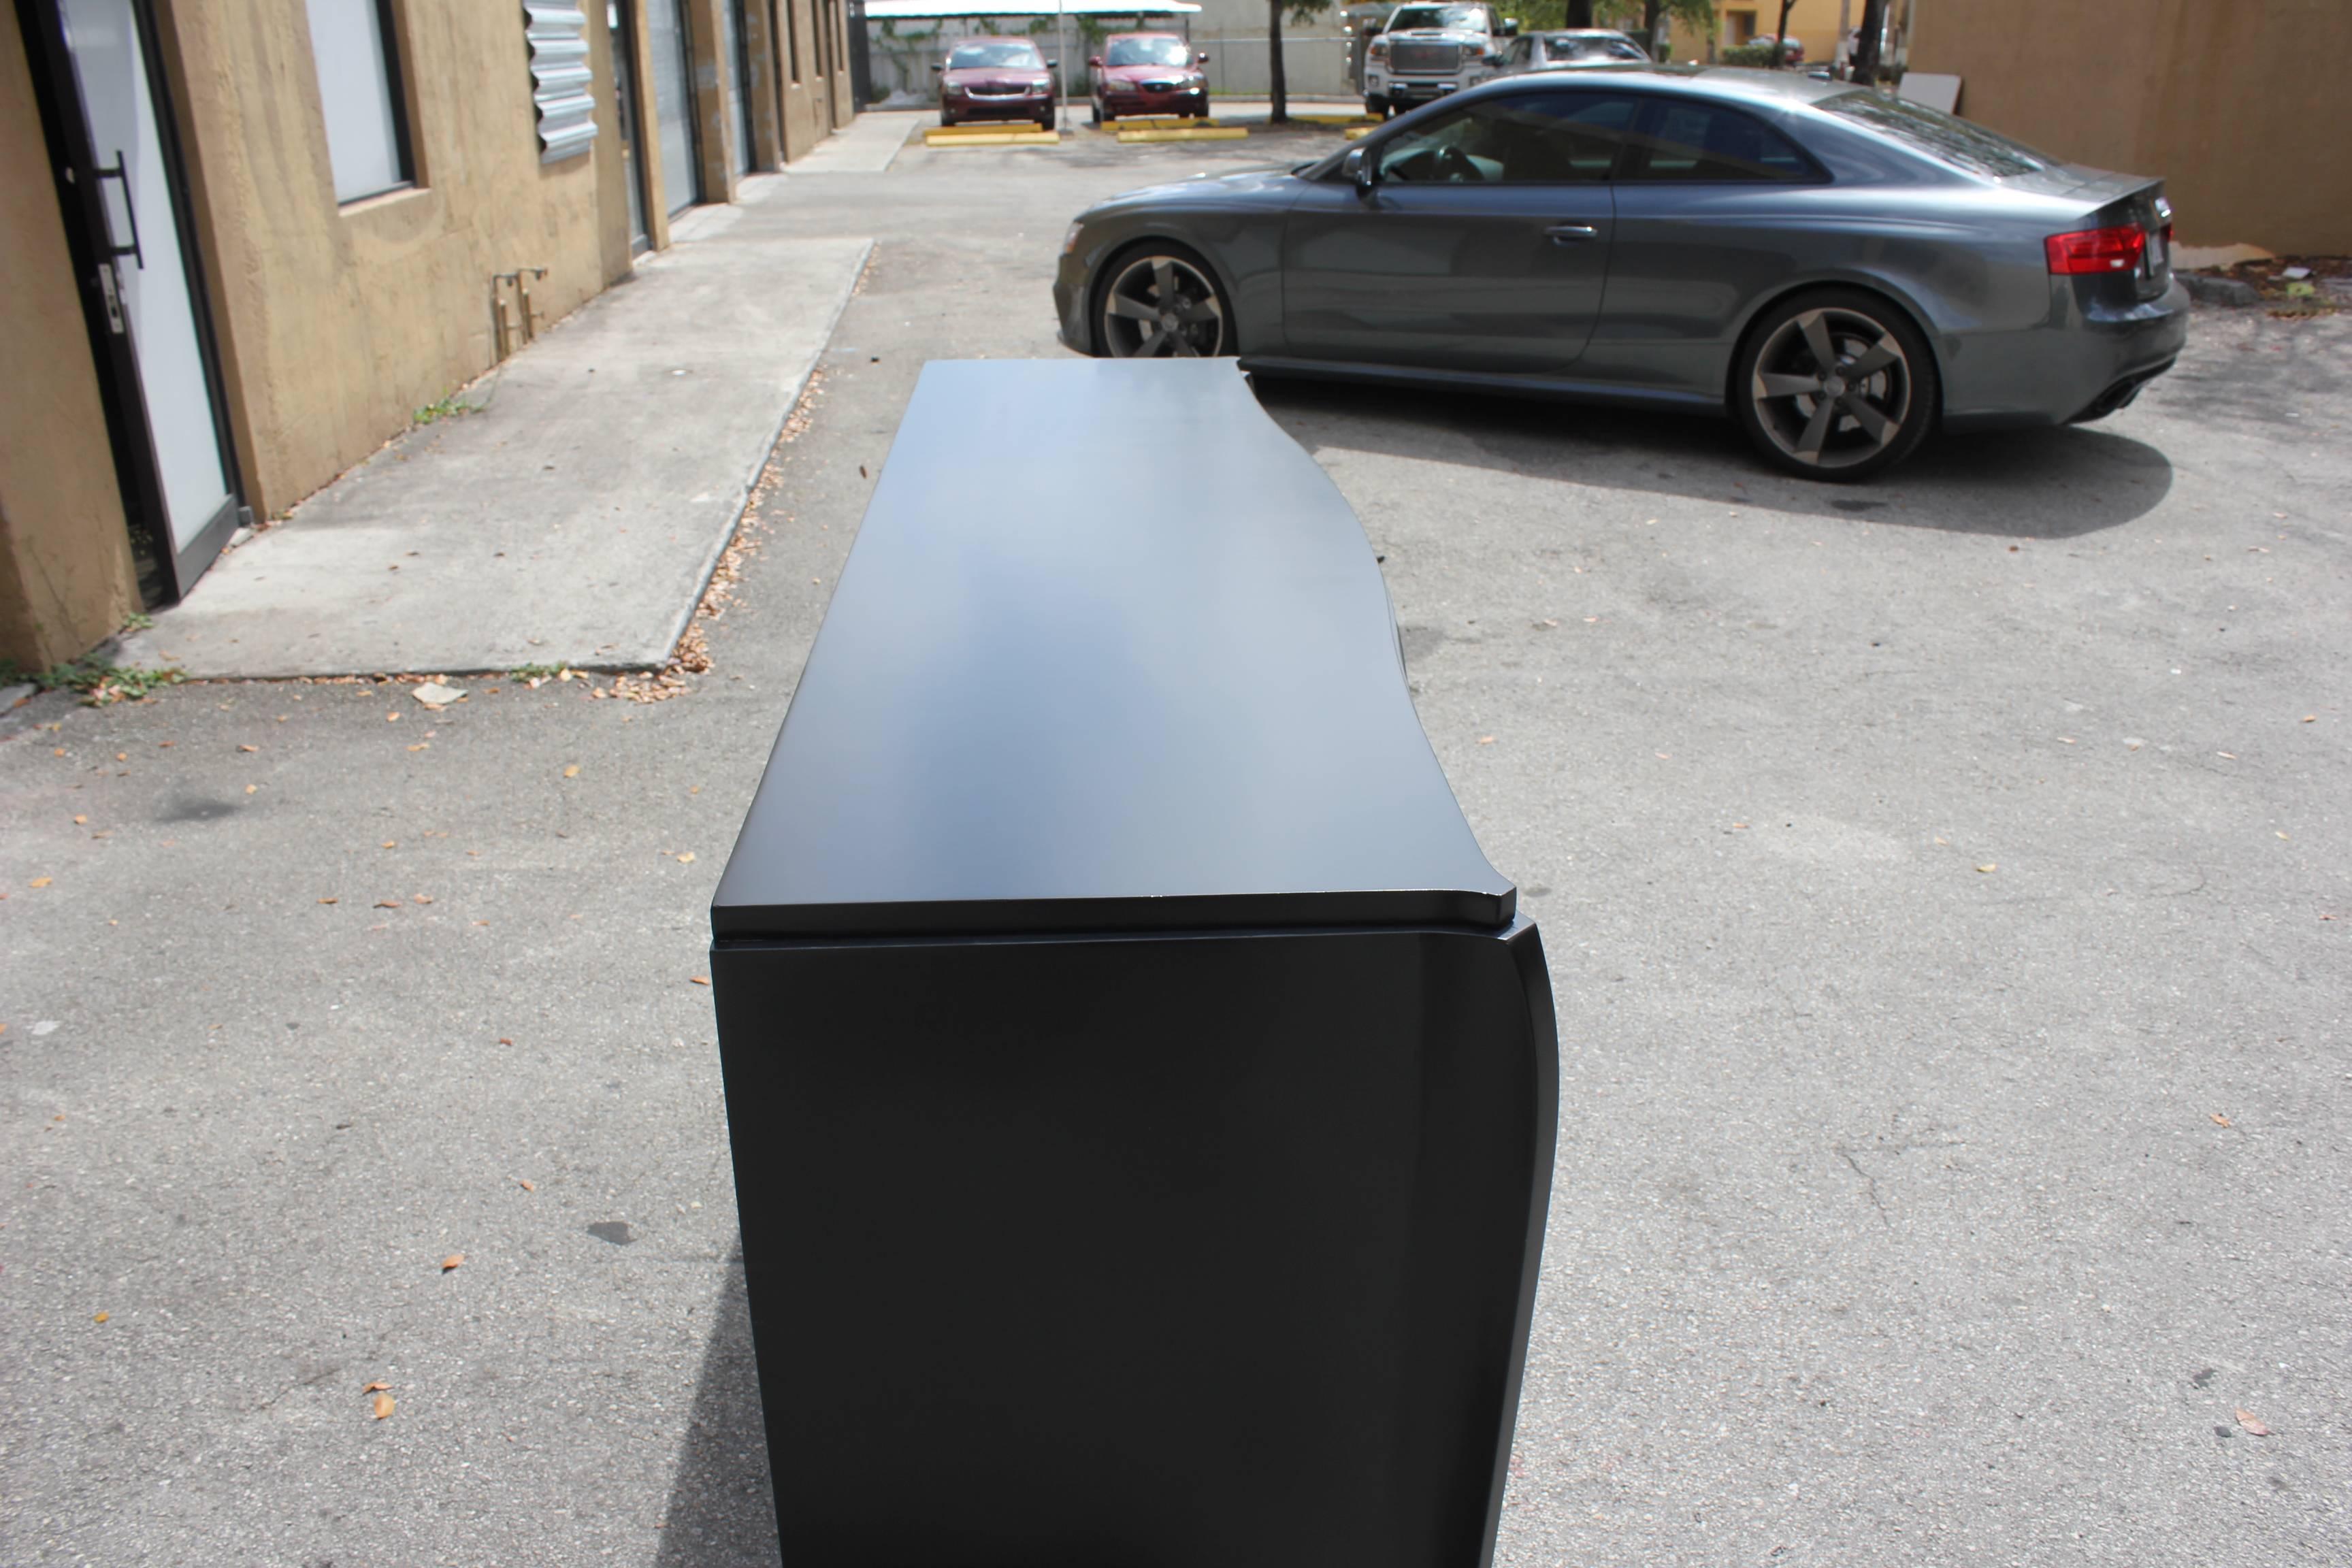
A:
<svg viewBox="0 0 2352 1568">
<path fill-rule="evenodd" d="M 89 327 L 33 106 L 0 16 L 0 658 L 80 658 L 139 609 Z"/>
</svg>

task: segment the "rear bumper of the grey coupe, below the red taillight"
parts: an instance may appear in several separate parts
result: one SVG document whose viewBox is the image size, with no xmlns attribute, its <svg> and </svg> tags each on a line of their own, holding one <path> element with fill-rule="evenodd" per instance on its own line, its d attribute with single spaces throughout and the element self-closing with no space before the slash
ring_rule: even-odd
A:
<svg viewBox="0 0 2352 1568">
<path fill-rule="evenodd" d="M 2051 317 L 2023 331 L 1945 339 L 1945 430 L 2067 425 L 2114 414 L 2180 357 L 2190 292 L 2103 308 L 2051 280 Z"/>
</svg>

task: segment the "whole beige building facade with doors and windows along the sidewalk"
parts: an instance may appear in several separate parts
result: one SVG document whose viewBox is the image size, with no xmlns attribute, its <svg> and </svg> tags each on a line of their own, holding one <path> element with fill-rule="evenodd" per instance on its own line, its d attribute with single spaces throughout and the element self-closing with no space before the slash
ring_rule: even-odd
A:
<svg viewBox="0 0 2352 1568">
<path fill-rule="evenodd" d="M 16 0 L 0 658 L 186 592 L 851 118 L 844 0 Z"/>
</svg>

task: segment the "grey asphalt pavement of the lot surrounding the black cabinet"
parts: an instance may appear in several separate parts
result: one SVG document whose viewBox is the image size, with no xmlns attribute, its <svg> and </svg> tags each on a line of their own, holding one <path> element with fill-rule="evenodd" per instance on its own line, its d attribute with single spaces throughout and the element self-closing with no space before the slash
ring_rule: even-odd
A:
<svg viewBox="0 0 2352 1568">
<path fill-rule="evenodd" d="M 875 254 L 684 696 L 9 715 L 0 1559 L 774 1561 L 713 882 L 922 362 L 1061 353 L 1087 200 L 1322 146 L 788 176 Z M 1501 1563 L 2352 1556 L 2347 393 L 2352 320 L 2201 310 L 1849 489 L 1263 390 L 1550 952 Z"/>
</svg>

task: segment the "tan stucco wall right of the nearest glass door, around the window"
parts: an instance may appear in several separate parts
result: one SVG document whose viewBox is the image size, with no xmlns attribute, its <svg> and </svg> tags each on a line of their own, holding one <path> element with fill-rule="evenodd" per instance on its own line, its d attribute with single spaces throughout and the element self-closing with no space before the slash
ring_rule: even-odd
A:
<svg viewBox="0 0 2352 1568">
<path fill-rule="evenodd" d="M 303 0 L 165 0 L 247 501 L 282 512 L 489 369 L 492 273 L 543 266 L 543 320 L 626 263 L 597 136 L 539 162 L 520 5 L 395 0 L 416 188 L 336 207 Z M 590 28 L 602 33 L 602 28 Z M 600 113 L 612 125 L 609 71 Z M 609 183 L 609 181 L 607 181 Z M 602 209 L 626 230 L 626 207 Z"/>
</svg>

